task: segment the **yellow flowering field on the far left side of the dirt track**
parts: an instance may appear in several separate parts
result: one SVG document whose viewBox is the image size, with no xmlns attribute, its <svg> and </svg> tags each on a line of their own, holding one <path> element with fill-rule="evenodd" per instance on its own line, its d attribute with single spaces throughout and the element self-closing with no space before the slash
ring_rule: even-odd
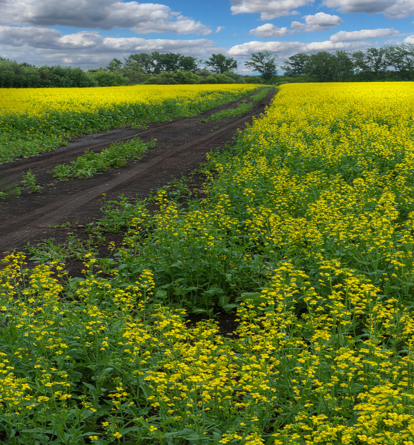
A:
<svg viewBox="0 0 414 445">
<path fill-rule="evenodd" d="M 0 89 L 0 163 L 52 151 L 113 127 L 188 117 L 235 100 L 252 85 Z"/>
</svg>

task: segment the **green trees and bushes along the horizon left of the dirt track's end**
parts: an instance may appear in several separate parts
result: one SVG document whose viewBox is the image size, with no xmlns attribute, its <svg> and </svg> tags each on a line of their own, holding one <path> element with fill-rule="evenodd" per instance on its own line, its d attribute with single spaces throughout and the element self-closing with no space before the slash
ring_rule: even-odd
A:
<svg viewBox="0 0 414 445">
<path fill-rule="evenodd" d="M 224 54 L 208 60 L 158 51 L 114 58 L 107 66 L 81 68 L 30 65 L 0 57 L 0 88 L 112 87 L 137 84 L 244 83 L 234 70 L 238 62 Z M 248 76 L 247 76 L 248 77 Z"/>
</svg>

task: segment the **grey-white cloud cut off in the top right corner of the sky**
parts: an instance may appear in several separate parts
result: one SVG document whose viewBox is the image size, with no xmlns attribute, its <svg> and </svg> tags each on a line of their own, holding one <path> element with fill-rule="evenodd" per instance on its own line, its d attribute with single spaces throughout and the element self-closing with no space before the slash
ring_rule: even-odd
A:
<svg viewBox="0 0 414 445">
<path fill-rule="evenodd" d="M 383 13 L 388 19 L 414 15 L 413 0 L 323 0 L 322 4 L 329 8 L 337 8 L 345 14 L 351 12 Z"/>
</svg>

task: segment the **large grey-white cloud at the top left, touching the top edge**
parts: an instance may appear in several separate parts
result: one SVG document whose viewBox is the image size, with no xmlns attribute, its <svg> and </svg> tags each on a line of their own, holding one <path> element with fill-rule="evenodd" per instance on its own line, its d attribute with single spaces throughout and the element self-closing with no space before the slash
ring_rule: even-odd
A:
<svg viewBox="0 0 414 445">
<path fill-rule="evenodd" d="M 5 25 L 115 27 L 137 34 L 170 32 L 211 34 L 211 29 L 158 3 L 122 0 L 1 0 L 0 23 Z"/>
</svg>

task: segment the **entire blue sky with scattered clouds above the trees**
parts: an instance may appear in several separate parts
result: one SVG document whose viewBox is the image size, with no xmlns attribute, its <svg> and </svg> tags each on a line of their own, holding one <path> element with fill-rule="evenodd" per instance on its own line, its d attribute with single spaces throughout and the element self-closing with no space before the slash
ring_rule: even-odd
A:
<svg viewBox="0 0 414 445">
<path fill-rule="evenodd" d="M 414 0 L 0 0 L 0 56 L 35 65 L 105 66 L 135 52 L 224 53 L 240 62 L 414 44 Z"/>
</svg>

